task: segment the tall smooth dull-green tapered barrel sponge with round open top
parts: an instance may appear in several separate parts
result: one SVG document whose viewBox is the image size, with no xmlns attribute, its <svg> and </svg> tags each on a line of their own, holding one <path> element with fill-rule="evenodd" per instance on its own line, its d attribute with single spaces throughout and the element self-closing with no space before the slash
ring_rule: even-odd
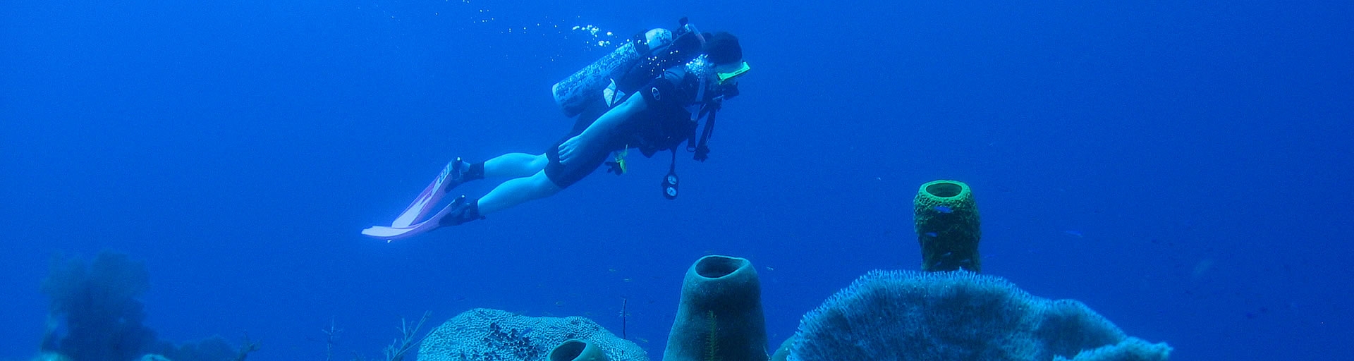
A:
<svg viewBox="0 0 1354 361">
<path fill-rule="evenodd" d="M 705 256 L 686 270 L 663 361 L 766 361 L 757 270 L 745 258 Z"/>
</svg>

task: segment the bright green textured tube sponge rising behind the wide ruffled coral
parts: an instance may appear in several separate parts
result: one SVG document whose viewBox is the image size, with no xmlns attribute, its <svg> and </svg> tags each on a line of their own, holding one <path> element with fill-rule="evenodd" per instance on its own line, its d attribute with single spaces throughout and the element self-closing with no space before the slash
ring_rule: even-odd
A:
<svg viewBox="0 0 1354 361">
<path fill-rule="evenodd" d="M 968 184 L 938 180 L 922 184 L 913 200 L 917 242 L 922 246 L 922 270 L 980 272 L 978 257 L 978 204 Z"/>
</svg>

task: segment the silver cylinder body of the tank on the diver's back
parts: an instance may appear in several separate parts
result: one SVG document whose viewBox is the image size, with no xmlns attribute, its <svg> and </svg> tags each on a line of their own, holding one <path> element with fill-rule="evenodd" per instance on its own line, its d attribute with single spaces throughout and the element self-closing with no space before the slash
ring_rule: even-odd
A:
<svg viewBox="0 0 1354 361">
<path fill-rule="evenodd" d="M 662 51 L 672 43 L 673 32 L 670 30 L 646 31 L 643 42 L 638 37 L 626 42 L 611 54 L 555 82 L 554 87 L 550 87 L 550 92 L 554 93 L 555 103 L 565 111 L 565 116 L 577 116 L 584 112 L 590 99 L 603 96 L 609 85 L 613 87 L 616 78 L 624 76 L 646 57 Z"/>
</svg>

